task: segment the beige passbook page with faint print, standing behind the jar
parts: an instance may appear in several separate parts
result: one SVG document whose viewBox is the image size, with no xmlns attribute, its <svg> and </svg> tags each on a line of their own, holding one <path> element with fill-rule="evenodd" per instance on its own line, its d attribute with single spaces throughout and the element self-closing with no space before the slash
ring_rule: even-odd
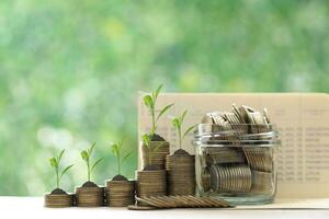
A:
<svg viewBox="0 0 329 219">
<path fill-rule="evenodd" d="M 149 130 L 150 115 L 138 99 L 138 136 Z M 158 124 L 157 134 L 178 148 L 170 115 L 189 113 L 184 127 L 201 123 L 205 113 L 230 111 L 231 104 L 266 107 L 271 122 L 277 125 L 282 145 L 276 150 L 276 198 L 329 198 L 329 95 L 324 93 L 163 93 L 157 111 L 167 104 L 174 106 Z M 183 149 L 194 153 L 191 132 Z"/>
</svg>

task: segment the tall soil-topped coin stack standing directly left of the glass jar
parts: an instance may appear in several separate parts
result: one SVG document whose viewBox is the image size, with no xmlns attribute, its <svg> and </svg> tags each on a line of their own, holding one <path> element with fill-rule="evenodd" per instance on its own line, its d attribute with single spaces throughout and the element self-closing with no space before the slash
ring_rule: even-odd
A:
<svg viewBox="0 0 329 219">
<path fill-rule="evenodd" d="M 195 194 L 195 155 L 179 150 L 167 155 L 166 170 L 169 195 Z"/>
</svg>

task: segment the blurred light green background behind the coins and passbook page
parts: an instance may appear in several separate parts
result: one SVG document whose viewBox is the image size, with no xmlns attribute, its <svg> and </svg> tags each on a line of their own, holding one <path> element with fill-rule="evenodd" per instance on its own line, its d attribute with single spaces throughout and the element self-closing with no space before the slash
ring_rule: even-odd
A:
<svg viewBox="0 0 329 219">
<path fill-rule="evenodd" d="M 114 176 L 107 141 L 136 151 L 138 90 L 328 92 L 328 57 L 326 0 L 1 0 L 0 195 L 52 191 L 60 149 L 72 191 L 92 141 L 92 180 Z"/>
</svg>

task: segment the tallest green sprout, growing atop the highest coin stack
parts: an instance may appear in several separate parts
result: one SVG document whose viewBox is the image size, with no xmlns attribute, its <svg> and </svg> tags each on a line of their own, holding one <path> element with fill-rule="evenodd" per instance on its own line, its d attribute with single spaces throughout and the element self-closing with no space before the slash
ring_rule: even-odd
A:
<svg viewBox="0 0 329 219">
<path fill-rule="evenodd" d="M 159 122 L 161 116 L 173 105 L 173 104 L 169 104 L 169 105 L 164 106 L 163 108 L 160 110 L 159 114 L 156 115 L 156 103 L 157 103 L 158 95 L 159 95 L 161 89 L 162 89 L 162 84 L 160 84 L 156 91 L 151 92 L 151 94 L 147 94 L 143 97 L 144 104 L 146 105 L 149 113 L 151 114 L 151 129 L 148 134 L 151 137 L 156 132 L 157 123 Z M 144 138 L 143 138 L 143 140 L 144 140 Z M 145 145 L 147 146 L 146 141 L 145 141 Z"/>
</svg>

